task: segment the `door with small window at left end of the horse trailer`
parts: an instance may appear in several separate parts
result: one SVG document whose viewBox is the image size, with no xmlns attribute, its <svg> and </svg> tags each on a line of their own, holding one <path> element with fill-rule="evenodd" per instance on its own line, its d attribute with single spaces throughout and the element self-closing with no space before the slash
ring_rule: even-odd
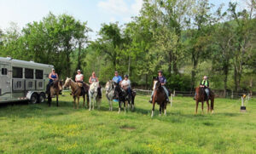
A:
<svg viewBox="0 0 256 154">
<path fill-rule="evenodd" d="M 0 102 L 11 98 L 11 69 L 9 63 L 0 62 Z"/>
</svg>

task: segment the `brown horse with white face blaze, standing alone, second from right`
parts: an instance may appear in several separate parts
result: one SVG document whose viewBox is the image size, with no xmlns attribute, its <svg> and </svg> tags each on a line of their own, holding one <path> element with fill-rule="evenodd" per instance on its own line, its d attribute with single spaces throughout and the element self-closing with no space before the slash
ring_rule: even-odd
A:
<svg viewBox="0 0 256 154">
<path fill-rule="evenodd" d="M 153 90 L 154 90 L 154 94 L 152 97 L 153 108 L 152 108 L 151 117 L 154 116 L 154 105 L 156 102 L 158 105 L 160 105 L 159 114 L 161 115 L 161 111 L 165 111 L 165 115 L 166 115 L 166 106 L 167 106 L 166 93 L 164 88 L 162 88 L 161 83 L 156 78 L 154 78 Z"/>
</svg>

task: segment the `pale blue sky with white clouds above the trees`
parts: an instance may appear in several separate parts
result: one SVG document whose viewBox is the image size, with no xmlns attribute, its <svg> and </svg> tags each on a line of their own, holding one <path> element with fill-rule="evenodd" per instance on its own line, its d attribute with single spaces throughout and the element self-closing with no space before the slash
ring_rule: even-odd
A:
<svg viewBox="0 0 256 154">
<path fill-rule="evenodd" d="M 225 7 L 230 1 L 243 8 L 246 0 L 209 0 L 216 6 L 224 3 Z M 27 23 L 42 20 L 49 12 L 65 13 L 76 20 L 87 21 L 93 30 L 89 37 L 95 39 L 102 23 L 118 21 L 123 25 L 139 14 L 142 5 L 143 0 L 0 0 L 0 29 L 7 30 L 10 23 L 22 29 Z"/>
</svg>

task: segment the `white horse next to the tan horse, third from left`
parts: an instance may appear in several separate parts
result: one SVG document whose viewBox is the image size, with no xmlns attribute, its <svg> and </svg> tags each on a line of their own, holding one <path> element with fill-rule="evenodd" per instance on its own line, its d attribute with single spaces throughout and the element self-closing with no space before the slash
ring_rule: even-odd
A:
<svg viewBox="0 0 256 154">
<path fill-rule="evenodd" d="M 91 109 L 94 110 L 95 102 L 96 102 L 96 106 L 98 107 L 98 109 L 100 108 L 100 101 L 98 101 L 96 99 L 96 96 L 97 96 L 97 93 L 98 93 L 97 92 L 98 87 L 99 87 L 99 82 L 93 82 L 93 83 L 90 84 L 90 88 L 89 88 L 89 100 L 90 100 L 89 111 Z"/>
</svg>

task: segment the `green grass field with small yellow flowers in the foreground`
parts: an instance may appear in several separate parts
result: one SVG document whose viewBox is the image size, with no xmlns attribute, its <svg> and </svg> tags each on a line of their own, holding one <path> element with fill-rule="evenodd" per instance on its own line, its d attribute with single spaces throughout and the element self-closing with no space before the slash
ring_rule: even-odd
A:
<svg viewBox="0 0 256 154">
<path fill-rule="evenodd" d="M 256 100 L 241 113 L 240 100 L 217 99 L 214 114 L 195 116 L 192 98 L 175 97 L 151 118 L 148 96 L 118 114 L 105 98 L 100 110 L 74 110 L 66 95 L 60 107 L 0 106 L 0 153 L 256 153 Z"/>
</svg>

